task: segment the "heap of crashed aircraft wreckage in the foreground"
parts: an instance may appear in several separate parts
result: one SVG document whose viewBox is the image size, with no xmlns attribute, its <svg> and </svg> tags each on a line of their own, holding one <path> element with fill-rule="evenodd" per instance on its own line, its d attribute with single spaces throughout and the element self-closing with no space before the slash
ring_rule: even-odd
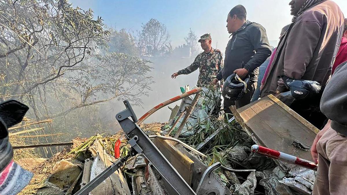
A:
<svg viewBox="0 0 347 195">
<path fill-rule="evenodd" d="M 188 115 L 185 110 L 192 107 L 196 97 L 189 95 L 197 93 L 201 95 Z M 226 121 L 209 118 L 215 104 L 212 103 L 214 100 L 207 101 L 205 96 L 211 97 L 205 88 L 195 88 L 176 96 L 175 99 L 182 100 L 180 106 L 172 109 L 169 123 L 158 124 L 160 128 L 155 131 L 149 130 L 152 127 L 146 127 L 151 124 L 140 124 L 130 104 L 124 102 L 127 109 L 118 113 L 116 119 L 125 135 L 119 132 L 112 139 L 118 139 L 121 144 L 121 140 L 126 138 L 128 141 L 122 142 L 121 149 L 128 148 L 124 145 L 126 143 L 132 149 L 127 149 L 128 153 L 121 152 L 121 155 L 115 149 L 113 156 L 108 147 L 112 149 L 116 144 L 108 144 L 101 136 L 97 136 L 100 138 L 90 142 L 82 155 L 75 153 L 75 159 L 66 156 L 59 162 L 54 161 L 56 164 L 51 175 L 37 194 L 75 194 L 78 190 L 76 194 L 89 195 L 309 195 L 312 192 L 315 175 L 313 170 L 309 170 L 311 167 L 306 169 L 290 163 L 293 163 L 294 158 L 310 160 L 308 144 L 312 142 L 317 129 L 271 95 L 237 110 L 231 107 L 234 117 L 230 120 L 238 123 L 233 121 L 230 126 Z M 175 100 L 158 104 L 147 112 L 149 114 L 146 118 L 173 101 Z M 207 113 L 202 114 L 205 111 Z M 188 118 L 186 122 L 179 118 L 184 115 Z M 182 124 L 186 128 L 183 132 L 191 131 L 193 135 L 177 133 L 176 127 Z M 237 129 L 232 130 L 230 127 Z M 208 128 L 210 131 L 206 133 Z M 168 130 L 173 131 L 172 137 L 167 133 Z M 204 131 L 205 136 L 200 138 Z M 220 142 L 216 144 L 215 141 L 225 137 L 226 133 L 235 137 L 225 139 L 229 145 L 217 151 L 220 159 L 212 160 L 216 156 L 209 152 L 210 149 L 223 145 Z M 178 134 L 179 139 L 173 137 Z M 119 139 L 122 135 L 125 138 Z M 199 137 L 197 141 L 189 142 L 196 136 Z M 76 147 L 87 143 L 82 140 L 73 142 L 74 151 L 79 151 Z M 257 144 L 262 150 L 254 147 L 251 149 L 253 144 Z M 269 151 L 268 156 L 274 160 L 263 156 L 269 154 Z M 287 159 L 289 163 L 282 161 L 282 157 L 290 157 Z M 69 174 L 62 174 L 64 172 Z"/>
</svg>

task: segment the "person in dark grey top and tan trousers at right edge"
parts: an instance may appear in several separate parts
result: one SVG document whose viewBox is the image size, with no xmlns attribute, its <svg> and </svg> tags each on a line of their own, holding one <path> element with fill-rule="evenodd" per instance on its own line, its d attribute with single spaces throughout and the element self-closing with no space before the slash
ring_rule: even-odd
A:
<svg viewBox="0 0 347 195">
<path fill-rule="evenodd" d="M 329 121 L 311 147 L 318 171 L 313 195 L 346 194 L 347 186 L 347 62 L 337 66 L 321 99 L 321 110 Z"/>
</svg>

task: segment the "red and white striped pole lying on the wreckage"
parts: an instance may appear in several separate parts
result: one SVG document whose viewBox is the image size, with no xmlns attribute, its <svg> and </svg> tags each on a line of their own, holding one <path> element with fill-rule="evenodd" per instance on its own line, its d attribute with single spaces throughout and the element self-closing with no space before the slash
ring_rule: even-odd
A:
<svg viewBox="0 0 347 195">
<path fill-rule="evenodd" d="M 299 157 L 292 156 L 290 154 L 286 154 L 283 152 L 279 152 L 277 150 L 272 150 L 272 149 L 269 149 L 267 147 L 263 147 L 263 146 L 259 146 L 259 145 L 253 145 L 251 147 L 251 150 L 252 150 L 252 152 L 262 154 L 264 156 L 268 156 L 270 158 L 277 159 L 280 161 L 285 161 L 285 162 L 288 162 L 291 164 L 296 164 L 298 166 L 305 167 L 307 169 L 311 169 L 314 171 L 317 171 L 317 168 L 318 168 L 317 165 L 311 161 L 301 159 Z"/>
</svg>

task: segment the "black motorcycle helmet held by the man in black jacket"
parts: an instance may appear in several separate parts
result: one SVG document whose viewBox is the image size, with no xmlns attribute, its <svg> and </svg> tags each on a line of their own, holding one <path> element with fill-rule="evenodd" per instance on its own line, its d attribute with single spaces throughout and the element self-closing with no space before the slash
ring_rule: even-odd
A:
<svg viewBox="0 0 347 195">
<path fill-rule="evenodd" d="M 228 76 L 223 84 L 222 94 L 224 99 L 236 101 L 242 98 L 247 92 L 249 75 L 242 80 L 236 73 Z"/>
</svg>

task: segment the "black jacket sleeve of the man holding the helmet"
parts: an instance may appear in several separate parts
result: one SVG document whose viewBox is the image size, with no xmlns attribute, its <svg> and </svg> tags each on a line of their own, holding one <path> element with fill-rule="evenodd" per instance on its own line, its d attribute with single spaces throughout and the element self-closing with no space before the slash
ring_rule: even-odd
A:
<svg viewBox="0 0 347 195">
<path fill-rule="evenodd" d="M 270 55 L 270 43 L 265 28 L 259 24 L 252 24 L 247 29 L 248 39 L 251 41 L 255 54 L 244 66 L 249 73 L 259 67 Z"/>
</svg>

